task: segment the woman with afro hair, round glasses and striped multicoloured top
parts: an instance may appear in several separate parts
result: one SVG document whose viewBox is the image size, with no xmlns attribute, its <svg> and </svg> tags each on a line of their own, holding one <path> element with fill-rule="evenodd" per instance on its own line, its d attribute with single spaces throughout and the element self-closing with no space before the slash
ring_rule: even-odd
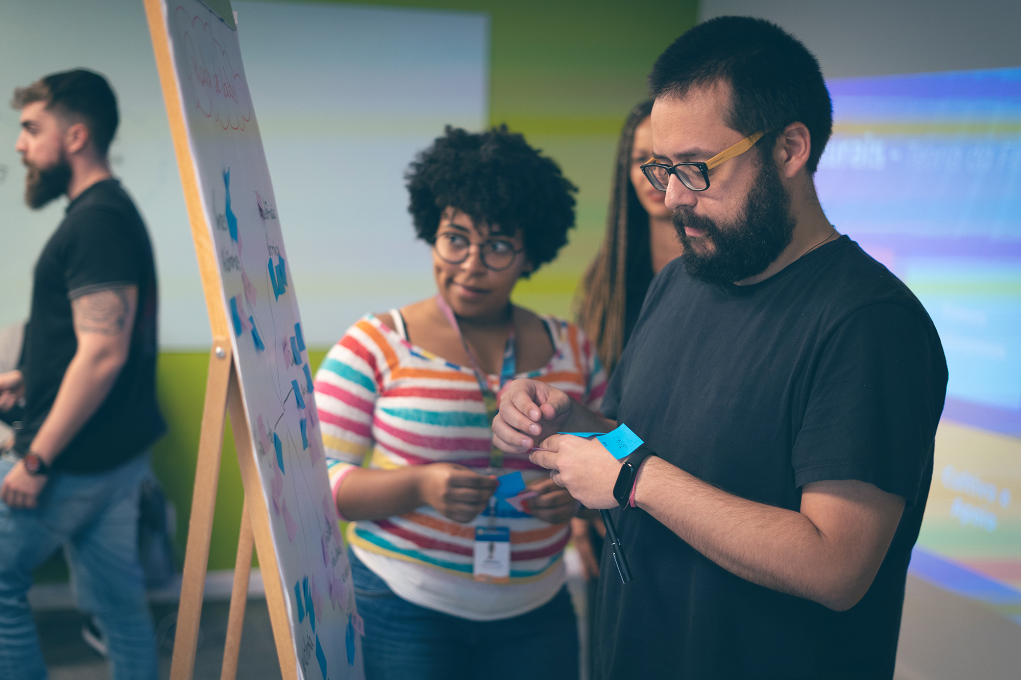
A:
<svg viewBox="0 0 1021 680">
<path fill-rule="evenodd" d="M 515 378 L 602 396 L 578 327 L 510 302 L 567 243 L 576 189 L 505 127 L 448 127 L 406 179 L 437 294 L 362 318 L 315 379 L 366 677 L 577 678 L 563 552 L 578 503 L 490 431 Z"/>
</svg>

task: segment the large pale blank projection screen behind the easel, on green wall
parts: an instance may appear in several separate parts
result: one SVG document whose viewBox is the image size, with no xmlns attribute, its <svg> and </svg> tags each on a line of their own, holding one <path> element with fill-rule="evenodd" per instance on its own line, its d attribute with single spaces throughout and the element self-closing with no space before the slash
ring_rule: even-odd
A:
<svg viewBox="0 0 1021 680">
<path fill-rule="evenodd" d="M 326 346 L 366 311 L 433 290 L 403 175 L 445 125 L 486 125 L 489 16 L 232 5 L 306 341 Z M 204 351 L 209 324 L 141 0 L 0 0 L 0 327 L 28 317 L 33 266 L 66 205 L 25 205 L 18 112 L 7 101 L 16 86 L 87 67 L 106 76 L 119 99 L 111 161 L 153 239 L 160 346 Z"/>
</svg>

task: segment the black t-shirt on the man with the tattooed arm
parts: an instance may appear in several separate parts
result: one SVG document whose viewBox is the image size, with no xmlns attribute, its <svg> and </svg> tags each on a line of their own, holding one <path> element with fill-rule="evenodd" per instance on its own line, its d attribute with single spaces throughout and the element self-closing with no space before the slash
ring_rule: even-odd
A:
<svg viewBox="0 0 1021 680">
<path fill-rule="evenodd" d="M 70 302 L 109 288 L 138 287 L 131 351 L 99 409 L 60 452 L 55 471 L 97 473 L 141 453 L 166 426 L 156 405 L 156 268 L 145 224 L 116 180 L 92 185 L 67 205 L 36 263 L 21 372 L 26 412 L 14 448 L 25 453 L 56 398 L 78 349 Z"/>
</svg>

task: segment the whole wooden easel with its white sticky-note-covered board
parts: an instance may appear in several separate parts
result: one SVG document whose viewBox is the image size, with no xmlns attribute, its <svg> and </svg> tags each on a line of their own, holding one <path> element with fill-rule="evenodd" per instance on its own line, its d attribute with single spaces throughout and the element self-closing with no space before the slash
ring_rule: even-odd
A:
<svg viewBox="0 0 1021 680">
<path fill-rule="evenodd" d="M 171 677 L 194 673 L 230 412 L 245 499 L 221 677 L 237 675 L 254 545 L 283 677 L 360 680 L 363 628 L 230 1 L 144 3 L 213 336 Z"/>
</svg>

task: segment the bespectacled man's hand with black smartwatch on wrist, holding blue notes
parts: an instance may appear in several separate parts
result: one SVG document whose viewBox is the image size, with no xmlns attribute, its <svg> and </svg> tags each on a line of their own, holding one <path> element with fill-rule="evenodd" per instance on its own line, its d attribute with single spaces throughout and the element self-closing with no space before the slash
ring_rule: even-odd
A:
<svg viewBox="0 0 1021 680">
<path fill-rule="evenodd" d="M 532 451 L 529 458 L 551 470 L 550 479 L 566 487 L 585 507 L 617 507 L 614 484 L 623 464 L 598 440 L 553 435 L 544 440 L 539 449 Z"/>
</svg>

